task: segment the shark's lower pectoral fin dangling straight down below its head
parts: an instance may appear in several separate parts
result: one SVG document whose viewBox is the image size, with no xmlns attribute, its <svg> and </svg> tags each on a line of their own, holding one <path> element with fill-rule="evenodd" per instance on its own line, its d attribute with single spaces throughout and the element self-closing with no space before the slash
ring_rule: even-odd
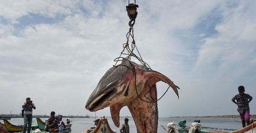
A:
<svg viewBox="0 0 256 133">
<path fill-rule="evenodd" d="M 122 107 L 124 107 L 125 105 L 123 104 L 113 104 L 112 106 L 110 106 L 110 113 L 111 113 L 111 117 L 112 120 L 114 122 L 114 124 L 119 128 L 120 126 L 120 110 Z"/>
</svg>

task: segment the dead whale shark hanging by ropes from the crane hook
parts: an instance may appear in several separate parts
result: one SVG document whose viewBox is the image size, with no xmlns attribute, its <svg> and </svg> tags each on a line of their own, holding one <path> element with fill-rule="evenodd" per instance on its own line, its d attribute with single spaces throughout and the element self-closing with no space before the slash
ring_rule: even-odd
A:
<svg viewBox="0 0 256 133">
<path fill-rule="evenodd" d="M 160 72 L 123 58 L 110 68 L 88 98 L 85 108 L 91 112 L 110 107 L 114 124 L 120 126 L 120 110 L 127 106 L 137 133 L 157 133 L 158 107 L 156 82 L 165 82 L 178 95 L 176 85 Z"/>
</svg>

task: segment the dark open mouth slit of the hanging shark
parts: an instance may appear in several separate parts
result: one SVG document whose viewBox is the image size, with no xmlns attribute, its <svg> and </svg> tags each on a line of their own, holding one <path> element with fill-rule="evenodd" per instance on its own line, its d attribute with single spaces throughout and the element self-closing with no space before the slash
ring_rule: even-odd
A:
<svg viewBox="0 0 256 133">
<path fill-rule="evenodd" d="M 113 88 L 110 92 L 107 92 L 105 95 L 103 95 L 100 99 L 98 99 L 94 104 L 92 104 L 90 111 L 96 111 L 95 109 L 99 107 L 103 102 L 105 102 L 109 97 L 112 96 L 113 93 L 117 92 L 115 88 Z M 104 107 L 103 107 L 104 108 Z M 99 110 L 99 109 L 97 109 Z"/>
</svg>

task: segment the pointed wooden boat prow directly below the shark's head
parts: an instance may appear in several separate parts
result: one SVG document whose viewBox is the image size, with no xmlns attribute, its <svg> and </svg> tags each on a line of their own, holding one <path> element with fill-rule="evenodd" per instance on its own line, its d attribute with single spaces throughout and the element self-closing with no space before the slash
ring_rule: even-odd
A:
<svg viewBox="0 0 256 133">
<path fill-rule="evenodd" d="M 91 127 L 90 129 L 83 130 L 82 133 L 117 133 L 112 130 L 107 122 L 107 118 L 101 118 L 96 128 Z"/>
</svg>

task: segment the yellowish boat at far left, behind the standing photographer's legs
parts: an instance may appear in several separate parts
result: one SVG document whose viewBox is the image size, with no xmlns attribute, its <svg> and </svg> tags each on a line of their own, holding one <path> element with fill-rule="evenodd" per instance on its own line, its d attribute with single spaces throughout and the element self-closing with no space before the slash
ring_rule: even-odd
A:
<svg viewBox="0 0 256 133">
<path fill-rule="evenodd" d="M 9 121 L 7 121 L 6 119 L 3 119 L 4 123 L 5 123 L 5 128 L 6 131 L 8 132 L 22 132 L 23 131 L 23 126 L 22 125 L 13 125 L 11 124 Z M 37 126 L 31 126 L 32 130 L 35 130 L 37 128 Z"/>
</svg>

